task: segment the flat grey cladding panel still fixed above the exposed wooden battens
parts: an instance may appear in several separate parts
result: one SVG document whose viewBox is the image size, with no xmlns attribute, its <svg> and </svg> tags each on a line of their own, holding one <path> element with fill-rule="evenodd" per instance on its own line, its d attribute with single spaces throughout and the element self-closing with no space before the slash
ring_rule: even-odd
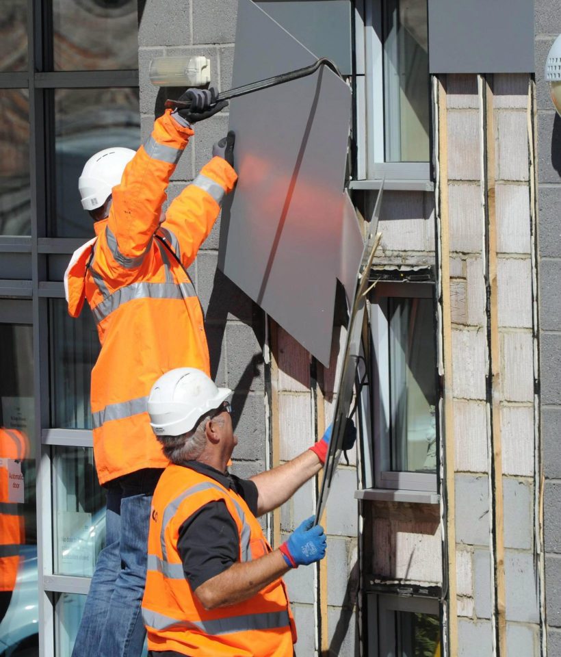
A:
<svg viewBox="0 0 561 657">
<path fill-rule="evenodd" d="M 428 0 L 430 73 L 532 73 L 530 0 Z"/>
</svg>

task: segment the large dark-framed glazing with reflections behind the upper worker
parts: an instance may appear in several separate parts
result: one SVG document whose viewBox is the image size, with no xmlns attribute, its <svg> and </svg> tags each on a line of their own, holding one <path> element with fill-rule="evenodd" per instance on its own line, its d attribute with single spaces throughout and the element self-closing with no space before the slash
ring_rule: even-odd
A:
<svg viewBox="0 0 561 657">
<path fill-rule="evenodd" d="M 0 428 L 29 441 L 19 461 L 0 455 L 15 474 L 21 468 L 24 490 L 16 503 L 25 542 L 0 617 L 0 643 L 14 656 L 37 654 L 38 643 L 41 654 L 70 656 L 103 546 L 89 399 L 99 340 L 87 307 L 78 320 L 68 316 L 62 273 L 94 235 L 77 190 L 86 160 L 140 144 L 143 8 L 143 0 L 0 3 Z"/>
</svg>

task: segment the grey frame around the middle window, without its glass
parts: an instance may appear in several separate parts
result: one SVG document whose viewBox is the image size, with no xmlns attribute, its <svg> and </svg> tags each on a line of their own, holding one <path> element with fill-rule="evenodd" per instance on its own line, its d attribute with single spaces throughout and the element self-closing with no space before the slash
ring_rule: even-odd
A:
<svg viewBox="0 0 561 657">
<path fill-rule="evenodd" d="M 390 450 L 391 436 L 382 428 L 382 417 L 388 417 L 387 394 L 380 394 L 383 389 L 389 389 L 389 365 L 387 352 L 388 322 L 378 302 L 379 298 L 426 298 L 432 299 L 433 318 L 436 322 L 436 286 L 434 283 L 378 283 L 369 296 L 369 324 L 372 341 L 371 348 L 371 439 L 374 443 L 374 487 L 393 491 L 423 491 L 436 493 L 438 491 L 439 445 L 440 430 L 438 415 L 436 416 L 436 472 L 404 472 L 387 469 L 387 454 Z M 437 400 L 440 398 L 438 363 L 436 351 L 436 331 L 434 331 L 434 382 Z M 382 388 L 383 386 L 383 388 Z M 438 404 L 436 404 L 435 412 Z"/>
</svg>

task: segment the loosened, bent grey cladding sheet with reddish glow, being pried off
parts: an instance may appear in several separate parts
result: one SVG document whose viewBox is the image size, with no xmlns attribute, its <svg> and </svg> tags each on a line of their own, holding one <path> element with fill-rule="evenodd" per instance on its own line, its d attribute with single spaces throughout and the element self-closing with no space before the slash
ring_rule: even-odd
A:
<svg viewBox="0 0 561 657">
<path fill-rule="evenodd" d="M 257 5 L 239 1 L 233 86 L 313 61 Z M 230 106 L 239 180 L 222 213 L 219 266 L 326 365 L 335 279 L 352 296 L 363 248 L 343 192 L 350 112 L 350 89 L 326 68 Z"/>
</svg>

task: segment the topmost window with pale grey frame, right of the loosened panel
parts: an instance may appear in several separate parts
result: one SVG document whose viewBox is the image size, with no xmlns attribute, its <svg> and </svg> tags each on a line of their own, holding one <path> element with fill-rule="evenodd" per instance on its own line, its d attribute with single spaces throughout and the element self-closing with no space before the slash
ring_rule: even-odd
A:
<svg viewBox="0 0 561 657">
<path fill-rule="evenodd" d="M 427 2 L 363 0 L 359 14 L 352 186 L 385 178 L 390 189 L 430 190 Z"/>
</svg>

